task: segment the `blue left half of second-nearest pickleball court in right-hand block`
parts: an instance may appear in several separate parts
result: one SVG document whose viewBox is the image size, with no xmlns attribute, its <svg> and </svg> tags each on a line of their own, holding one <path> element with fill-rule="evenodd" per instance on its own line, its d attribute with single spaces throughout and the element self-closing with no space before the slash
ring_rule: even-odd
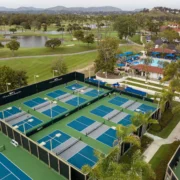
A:
<svg viewBox="0 0 180 180">
<path fill-rule="evenodd" d="M 82 131 L 83 129 L 87 128 L 91 124 L 93 124 L 95 121 L 92 119 L 89 119 L 85 116 L 81 116 L 77 118 L 76 120 L 70 122 L 68 124 L 69 127 L 76 129 L 77 131 Z"/>
</svg>

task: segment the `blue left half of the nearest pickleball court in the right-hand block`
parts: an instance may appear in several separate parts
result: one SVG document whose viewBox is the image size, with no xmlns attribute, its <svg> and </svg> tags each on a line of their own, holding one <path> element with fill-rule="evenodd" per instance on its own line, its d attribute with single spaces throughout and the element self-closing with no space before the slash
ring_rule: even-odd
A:
<svg viewBox="0 0 180 180">
<path fill-rule="evenodd" d="M 60 137 L 56 137 L 56 134 L 61 134 Z M 56 130 L 49 135 L 43 137 L 42 139 L 38 140 L 38 143 L 44 142 L 47 149 L 51 150 L 51 142 L 52 142 L 52 149 L 56 148 L 60 144 L 64 143 L 67 141 L 69 138 L 71 138 L 69 135 L 63 133 L 62 131 Z M 51 141 L 51 142 L 50 142 Z"/>
</svg>

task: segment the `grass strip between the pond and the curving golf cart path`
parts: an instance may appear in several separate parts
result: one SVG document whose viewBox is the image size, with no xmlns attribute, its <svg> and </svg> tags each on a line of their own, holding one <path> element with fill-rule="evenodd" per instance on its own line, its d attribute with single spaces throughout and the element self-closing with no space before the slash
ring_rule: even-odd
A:
<svg viewBox="0 0 180 180">
<path fill-rule="evenodd" d="M 71 44 L 75 44 L 72 42 Z M 36 56 L 36 55 L 51 55 L 51 54 L 68 54 L 68 53 L 77 53 L 83 51 L 90 51 L 96 49 L 96 44 L 90 45 L 87 44 L 75 44 L 75 46 L 67 47 L 61 46 L 55 49 L 51 48 L 20 48 L 15 52 L 15 56 Z M 12 57 L 12 52 L 8 48 L 0 49 L 0 58 Z"/>
</svg>

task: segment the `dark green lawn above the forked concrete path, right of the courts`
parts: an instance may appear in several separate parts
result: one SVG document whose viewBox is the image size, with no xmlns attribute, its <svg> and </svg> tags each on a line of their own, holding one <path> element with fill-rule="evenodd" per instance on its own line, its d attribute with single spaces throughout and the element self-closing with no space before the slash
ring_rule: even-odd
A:
<svg viewBox="0 0 180 180">
<path fill-rule="evenodd" d="M 173 105 L 176 106 L 178 102 L 174 102 Z M 161 120 L 160 124 L 153 124 L 149 130 L 149 133 L 159 136 L 161 138 L 167 138 L 176 125 L 179 123 L 180 112 L 172 115 L 170 110 L 167 110 Z"/>
</svg>

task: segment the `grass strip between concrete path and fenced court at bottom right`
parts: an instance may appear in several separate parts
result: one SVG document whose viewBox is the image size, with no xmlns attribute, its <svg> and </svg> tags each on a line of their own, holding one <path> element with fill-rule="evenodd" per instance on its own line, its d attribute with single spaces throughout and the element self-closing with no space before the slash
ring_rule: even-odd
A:
<svg viewBox="0 0 180 180">
<path fill-rule="evenodd" d="M 156 180 L 164 180 L 167 164 L 175 153 L 180 142 L 162 145 L 151 159 L 150 164 L 156 173 Z"/>
</svg>

